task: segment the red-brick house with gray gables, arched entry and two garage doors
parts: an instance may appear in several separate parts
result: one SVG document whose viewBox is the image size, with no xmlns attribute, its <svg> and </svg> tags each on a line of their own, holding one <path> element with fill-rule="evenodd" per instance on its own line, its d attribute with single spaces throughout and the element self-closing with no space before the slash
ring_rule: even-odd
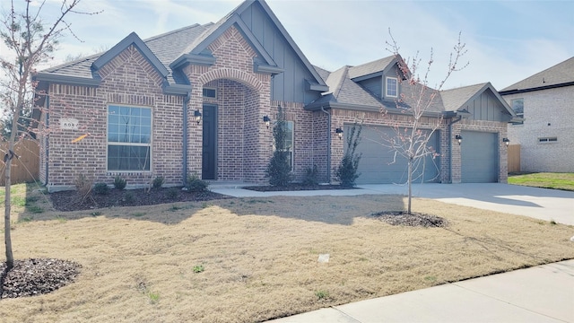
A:
<svg viewBox="0 0 574 323">
<path fill-rule="evenodd" d="M 409 125 L 396 100 L 413 89 L 399 82 L 397 59 L 334 72 L 311 65 L 263 0 L 217 23 L 145 40 L 132 33 L 107 52 L 35 75 L 48 94 L 35 111 L 48 128 L 40 178 L 50 190 L 73 187 L 79 174 L 108 183 L 120 175 L 130 186 L 156 176 L 181 185 L 191 172 L 263 183 L 274 149 L 273 125 L 264 120 L 273 122 L 281 105 L 297 180 L 317 165 L 320 180 L 333 181 L 345 143 L 336 131 L 345 137 L 363 120 L 358 182 L 404 182 L 406 162 L 390 163 L 392 153 L 370 140 Z M 491 83 L 440 92 L 423 120 L 427 127 L 440 120 L 432 138 L 439 157 L 430 163 L 437 167 L 425 167 L 425 179 L 506 182 L 502 138 L 514 117 Z"/>
</svg>

